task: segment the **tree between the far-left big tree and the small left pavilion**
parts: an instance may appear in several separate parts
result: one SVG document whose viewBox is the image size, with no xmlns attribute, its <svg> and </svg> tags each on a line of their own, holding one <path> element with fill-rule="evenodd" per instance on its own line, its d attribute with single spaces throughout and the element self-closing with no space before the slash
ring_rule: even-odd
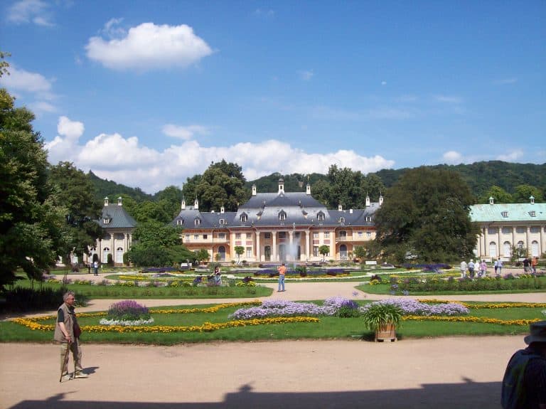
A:
<svg viewBox="0 0 546 409">
<path fill-rule="evenodd" d="M 70 162 L 50 166 L 48 183 L 55 200 L 66 210 L 68 248 L 64 249 L 64 256 L 75 253 L 82 260 L 95 240 L 102 237 L 102 228 L 96 223 L 101 207 L 95 199 L 95 186 L 87 174 Z"/>
</svg>

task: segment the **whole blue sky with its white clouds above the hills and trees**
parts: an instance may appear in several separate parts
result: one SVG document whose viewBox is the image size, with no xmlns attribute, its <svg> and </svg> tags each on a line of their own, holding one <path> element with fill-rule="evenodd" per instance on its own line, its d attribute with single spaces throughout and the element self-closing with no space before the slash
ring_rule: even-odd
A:
<svg viewBox="0 0 546 409">
<path fill-rule="evenodd" d="M 4 1 L 49 160 L 148 193 L 235 162 L 546 161 L 545 1 Z"/>
</svg>

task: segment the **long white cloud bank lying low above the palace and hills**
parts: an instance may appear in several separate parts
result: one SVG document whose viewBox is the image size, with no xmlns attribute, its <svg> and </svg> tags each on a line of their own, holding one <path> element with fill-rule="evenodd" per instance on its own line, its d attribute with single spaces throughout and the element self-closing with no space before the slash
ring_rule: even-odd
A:
<svg viewBox="0 0 546 409">
<path fill-rule="evenodd" d="M 60 117 L 59 135 L 46 144 L 50 163 L 72 161 L 78 168 L 92 170 L 103 179 L 149 193 L 169 185 L 180 186 L 188 177 L 203 174 L 211 162 L 222 159 L 241 166 L 248 180 L 274 172 L 326 174 L 331 164 L 365 174 L 395 164 L 382 156 L 366 157 L 346 149 L 327 154 L 304 152 L 275 139 L 224 147 L 203 147 L 196 140 L 183 139 L 180 144 L 158 151 L 142 145 L 137 137 L 100 134 L 82 144 L 79 141 L 84 129 L 81 122 Z"/>
</svg>

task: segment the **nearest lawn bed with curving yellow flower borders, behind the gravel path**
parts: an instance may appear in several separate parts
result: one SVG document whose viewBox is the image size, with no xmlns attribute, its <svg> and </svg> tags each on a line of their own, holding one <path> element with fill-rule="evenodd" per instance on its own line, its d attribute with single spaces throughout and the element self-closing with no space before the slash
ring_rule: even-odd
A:
<svg viewBox="0 0 546 409">
<path fill-rule="evenodd" d="M 423 309 L 422 305 L 415 304 L 409 298 L 400 299 L 400 302 L 409 309 L 402 318 L 402 327 L 397 329 L 397 338 L 402 341 L 425 336 L 526 334 L 530 322 L 546 317 L 546 304 L 473 302 L 459 303 L 459 307 L 441 307 L 448 304 L 427 301 L 421 303 L 428 306 L 426 309 L 443 312 L 441 315 L 418 315 L 417 309 Z M 305 307 L 304 304 L 313 305 Z M 355 309 L 361 309 L 368 303 L 338 297 L 333 304 L 341 310 L 341 307 L 354 305 Z M 469 312 L 460 314 L 459 311 L 455 315 L 446 313 L 461 307 L 469 309 Z M 259 317 L 248 313 L 249 309 L 285 308 L 291 313 L 262 314 Z M 99 324 L 100 319 L 107 312 L 78 314 L 78 321 L 83 329 L 84 344 L 107 342 L 170 345 L 207 341 L 354 339 L 354 336 L 373 339 L 373 334 L 365 330 L 363 319 L 358 315 L 309 313 L 310 309 L 320 311 L 323 308 L 331 308 L 331 305 L 328 306 L 328 302 L 291 303 L 272 300 L 269 304 L 248 302 L 149 309 L 154 324 L 146 326 L 102 326 Z M 53 339 L 54 324 L 55 317 L 0 322 L 0 341 L 50 342 Z"/>
</svg>

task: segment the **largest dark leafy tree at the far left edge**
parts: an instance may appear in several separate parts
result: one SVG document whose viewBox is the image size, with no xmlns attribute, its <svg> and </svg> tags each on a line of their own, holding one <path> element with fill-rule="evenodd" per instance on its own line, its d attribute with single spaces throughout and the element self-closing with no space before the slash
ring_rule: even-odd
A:
<svg viewBox="0 0 546 409">
<path fill-rule="evenodd" d="M 48 200 L 47 156 L 33 119 L 0 89 L 0 286 L 14 282 L 18 267 L 41 278 L 63 245 L 63 211 Z"/>
</svg>

